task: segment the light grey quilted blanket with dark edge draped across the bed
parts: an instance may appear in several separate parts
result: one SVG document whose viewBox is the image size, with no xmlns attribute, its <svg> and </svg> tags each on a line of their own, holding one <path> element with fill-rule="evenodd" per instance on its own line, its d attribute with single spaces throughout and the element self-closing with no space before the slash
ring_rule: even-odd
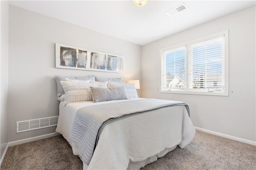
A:
<svg viewBox="0 0 256 170">
<path fill-rule="evenodd" d="M 131 100 L 82 107 L 76 112 L 69 140 L 78 145 L 81 159 L 84 164 L 88 165 L 98 143 L 99 135 L 107 123 L 126 116 L 174 105 L 185 105 L 189 115 L 186 103 L 158 99 Z"/>
</svg>

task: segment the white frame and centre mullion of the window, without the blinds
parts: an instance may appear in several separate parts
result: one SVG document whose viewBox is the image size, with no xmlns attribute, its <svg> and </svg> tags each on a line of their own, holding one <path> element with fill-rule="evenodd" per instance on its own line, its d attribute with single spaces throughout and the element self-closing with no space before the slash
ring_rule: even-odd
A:
<svg viewBox="0 0 256 170">
<path fill-rule="evenodd" d="M 200 43 L 202 41 L 208 41 L 214 39 L 218 36 L 224 35 L 224 89 L 221 91 L 206 91 L 206 90 L 199 90 L 199 89 L 188 89 L 188 45 Z M 186 46 L 186 88 L 185 89 L 172 89 L 170 91 L 162 90 L 162 53 L 171 51 L 174 49 L 178 49 L 180 47 Z M 159 92 L 160 93 L 174 93 L 174 94 L 197 94 L 197 95 L 210 95 L 210 96 L 228 96 L 228 30 L 221 31 L 212 35 L 208 35 L 205 37 L 200 37 L 197 39 L 193 39 L 191 41 L 186 41 L 184 43 L 179 43 L 176 45 L 171 45 L 159 50 L 159 57 L 160 57 L 160 78 L 159 78 Z"/>
</svg>

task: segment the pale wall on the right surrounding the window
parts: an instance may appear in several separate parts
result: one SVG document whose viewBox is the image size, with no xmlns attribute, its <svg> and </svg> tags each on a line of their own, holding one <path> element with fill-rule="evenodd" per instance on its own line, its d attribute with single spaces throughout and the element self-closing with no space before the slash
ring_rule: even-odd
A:
<svg viewBox="0 0 256 170">
<path fill-rule="evenodd" d="M 142 46 L 142 97 L 184 101 L 193 125 L 256 141 L 255 5 Z M 159 93 L 159 49 L 229 30 L 229 96 Z M 233 93 L 231 93 L 233 91 Z"/>
</svg>

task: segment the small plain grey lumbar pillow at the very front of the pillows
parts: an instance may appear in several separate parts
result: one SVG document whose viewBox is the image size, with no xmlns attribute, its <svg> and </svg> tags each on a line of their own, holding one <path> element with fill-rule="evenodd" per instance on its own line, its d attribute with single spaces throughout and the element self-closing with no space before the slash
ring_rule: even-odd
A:
<svg viewBox="0 0 256 170">
<path fill-rule="evenodd" d="M 92 100 L 94 102 L 127 99 L 126 90 L 124 87 L 116 87 L 116 88 L 90 87 L 90 89 L 92 92 Z"/>
</svg>

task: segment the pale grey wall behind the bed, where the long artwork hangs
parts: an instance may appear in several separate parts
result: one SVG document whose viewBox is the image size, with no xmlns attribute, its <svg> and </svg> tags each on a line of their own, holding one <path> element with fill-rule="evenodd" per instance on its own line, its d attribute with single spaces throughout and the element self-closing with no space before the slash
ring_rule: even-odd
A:
<svg viewBox="0 0 256 170">
<path fill-rule="evenodd" d="M 124 73 L 55 68 L 55 43 L 124 56 Z M 9 142 L 55 131 L 16 133 L 16 121 L 58 115 L 56 74 L 141 80 L 141 46 L 10 5 Z"/>
</svg>

